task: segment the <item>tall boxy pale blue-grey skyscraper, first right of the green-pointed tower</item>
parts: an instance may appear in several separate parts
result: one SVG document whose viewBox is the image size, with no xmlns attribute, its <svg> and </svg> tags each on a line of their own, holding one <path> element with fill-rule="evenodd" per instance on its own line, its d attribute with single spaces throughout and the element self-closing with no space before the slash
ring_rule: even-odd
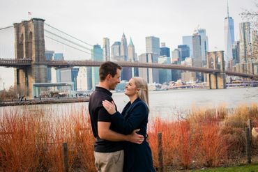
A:
<svg viewBox="0 0 258 172">
<path fill-rule="evenodd" d="M 147 36 L 146 42 L 146 53 L 154 53 L 160 56 L 160 38 L 154 36 Z"/>
</svg>

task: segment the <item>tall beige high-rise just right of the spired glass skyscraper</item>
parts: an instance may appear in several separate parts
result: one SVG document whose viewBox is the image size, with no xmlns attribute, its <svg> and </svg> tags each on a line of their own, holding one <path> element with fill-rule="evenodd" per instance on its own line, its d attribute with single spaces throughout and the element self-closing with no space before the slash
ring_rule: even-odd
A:
<svg viewBox="0 0 258 172">
<path fill-rule="evenodd" d="M 240 33 L 240 62 L 250 62 L 251 60 L 251 34 L 250 22 L 239 24 Z"/>
</svg>

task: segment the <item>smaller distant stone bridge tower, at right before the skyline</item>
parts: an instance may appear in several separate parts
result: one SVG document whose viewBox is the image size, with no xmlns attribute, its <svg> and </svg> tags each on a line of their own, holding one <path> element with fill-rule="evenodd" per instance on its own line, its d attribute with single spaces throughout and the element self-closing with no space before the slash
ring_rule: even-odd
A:
<svg viewBox="0 0 258 172">
<path fill-rule="evenodd" d="M 207 74 L 208 87 L 210 89 L 226 88 L 224 52 L 208 52 L 206 58 L 207 68 L 220 70 L 220 73 Z"/>
</svg>

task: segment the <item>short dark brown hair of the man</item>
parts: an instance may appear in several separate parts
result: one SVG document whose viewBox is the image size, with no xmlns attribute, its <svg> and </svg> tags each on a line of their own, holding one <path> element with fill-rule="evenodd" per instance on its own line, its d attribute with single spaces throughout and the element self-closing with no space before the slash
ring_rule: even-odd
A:
<svg viewBox="0 0 258 172">
<path fill-rule="evenodd" d="M 100 75 L 100 81 L 104 81 L 107 75 L 116 75 L 116 70 L 119 69 L 121 70 L 122 67 L 112 61 L 107 61 L 100 65 L 100 70 L 99 70 L 99 75 Z"/>
</svg>

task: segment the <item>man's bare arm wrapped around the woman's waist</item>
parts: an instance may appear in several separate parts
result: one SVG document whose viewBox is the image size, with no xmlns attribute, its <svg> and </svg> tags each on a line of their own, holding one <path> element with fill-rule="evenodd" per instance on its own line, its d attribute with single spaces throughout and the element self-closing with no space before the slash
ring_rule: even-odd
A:
<svg viewBox="0 0 258 172">
<path fill-rule="evenodd" d="M 111 123 L 98 121 L 98 136 L 100 139 L 108 141 L 130 141 L 138 144 L 141 144 L 142 141 L 144 141 L 144 136 L 136 133 L 139 130 L 133 131 L 132 134 L 123 135 L 110 130 L 110 125 Z"/>
</svg>

